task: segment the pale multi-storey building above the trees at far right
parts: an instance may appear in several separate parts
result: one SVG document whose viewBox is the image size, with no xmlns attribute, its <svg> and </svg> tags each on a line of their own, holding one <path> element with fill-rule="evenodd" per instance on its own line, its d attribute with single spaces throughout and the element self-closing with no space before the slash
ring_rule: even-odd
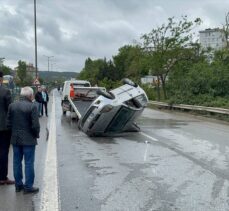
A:
<svg viewBox="0 0 229 211">
<path fill-rule="evenodd" d="M 212 48 L 213 50 L 220 50 L 227 46 L 225 33 L 222 29 L 205 29 L 199 31 L 200 45 L 204 49 Z"/>
</svg>

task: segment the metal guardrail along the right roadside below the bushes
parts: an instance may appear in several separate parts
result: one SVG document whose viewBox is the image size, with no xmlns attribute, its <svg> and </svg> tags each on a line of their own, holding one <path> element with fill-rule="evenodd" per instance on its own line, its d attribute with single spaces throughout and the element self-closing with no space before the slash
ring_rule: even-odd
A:
<svg viewBox="0 0 229 211">
<path fill-rule="evenodd" d="M 184 109 L 184 110 L 192 110 L 192 111 L 206 111 L 210 113 L 217 114 L 229 114 L 229 109 L 225 108 L 217 108 L 217 107 L 205 107 L 205 106 L 196 106 L 196 105 L 185 105 L 185 104 L 168 104 L 158 101 L 149 101 L 149 104 L 155 105 L 158 107 L 167 107 L 170 109 Z"/>
</svg>

